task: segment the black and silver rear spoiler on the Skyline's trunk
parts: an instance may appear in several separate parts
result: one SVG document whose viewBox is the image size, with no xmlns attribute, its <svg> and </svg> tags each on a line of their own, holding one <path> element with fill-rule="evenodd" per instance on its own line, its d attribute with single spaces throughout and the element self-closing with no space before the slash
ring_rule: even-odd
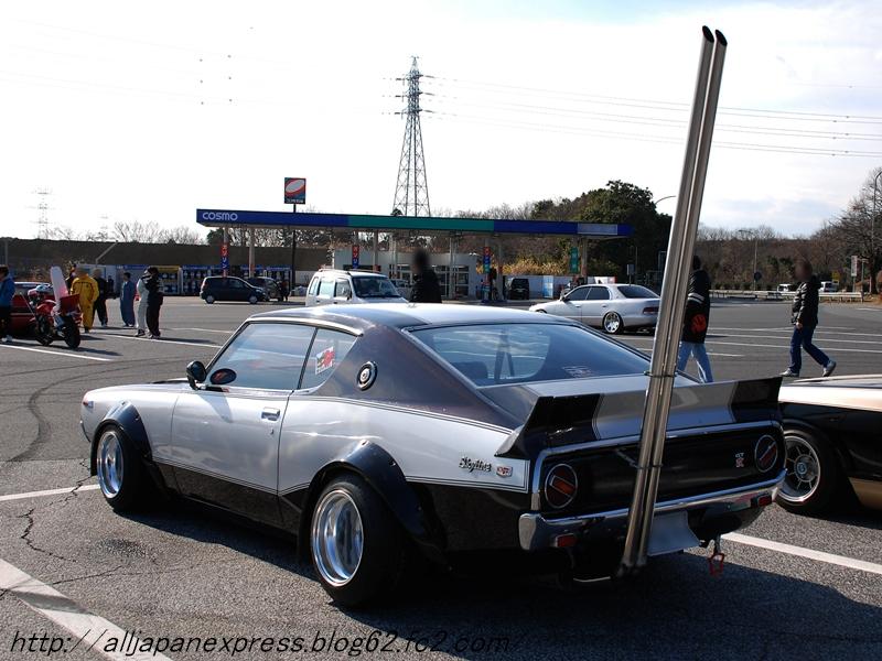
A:
<svg viewBox="0 0 882 661">
<path fill-rule="evenodd" d="M 668 433 L 739 422 L 777 422 L 781 377 L 681 386 L 670 399 Z M 496 451 L 530 459 L 547 447 L 639 436 L 646 392 L 540 397 L 527 422 Z"/>
</svg>

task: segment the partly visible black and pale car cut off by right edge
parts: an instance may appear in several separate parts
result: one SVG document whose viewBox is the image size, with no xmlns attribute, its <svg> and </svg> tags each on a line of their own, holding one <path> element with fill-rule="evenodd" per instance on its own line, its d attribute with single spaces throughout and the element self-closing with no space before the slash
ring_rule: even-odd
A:
<svg viewBox="0 0 882 661">
<path fill-rule="evenodd" d="M 803 379 L 781 388 L 786 509 L 818 514 L 840 496 L 882 510 L 882 375 Z"/>
</svg>

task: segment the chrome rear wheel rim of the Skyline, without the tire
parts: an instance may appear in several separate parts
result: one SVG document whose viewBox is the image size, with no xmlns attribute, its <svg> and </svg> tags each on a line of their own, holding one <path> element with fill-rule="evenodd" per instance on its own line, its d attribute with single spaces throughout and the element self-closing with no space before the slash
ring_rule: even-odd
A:
<svg viewBox="0 0 882 661">
<path fill-rule="evenodd" d="M 362 516 L 343 489 L 324 495 L 312 519 L 312 557 L 331 585 L 348 583 L 358 571 L 364 553 Z"/>
</svg>

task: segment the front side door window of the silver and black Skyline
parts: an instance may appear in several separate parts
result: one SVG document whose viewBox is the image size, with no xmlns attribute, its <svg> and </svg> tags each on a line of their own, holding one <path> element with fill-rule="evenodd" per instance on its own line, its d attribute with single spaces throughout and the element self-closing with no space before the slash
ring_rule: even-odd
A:
<svg viewBox="0 0 882 661">
<path fill-rule="evenodd" d="M 234 388 L 293 390 L 315 328 L 297 324 L 249 324 L 212 366 L 215 373 L 234 370 Z"/>
</svg>

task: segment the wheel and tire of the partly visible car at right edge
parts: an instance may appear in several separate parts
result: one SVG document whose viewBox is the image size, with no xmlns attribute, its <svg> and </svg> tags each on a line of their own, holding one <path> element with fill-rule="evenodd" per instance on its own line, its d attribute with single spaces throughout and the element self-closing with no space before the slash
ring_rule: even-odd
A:
<svg viewBox="0 0 882 661">
<path fill-rule="evenodd" d="M 842 468 L 830 443 L 820 433 L 799 426 L 784 430 L 787 476 L 777 503 L 797 514 L 828 511 L 842 485 Z"/>
</svg>

